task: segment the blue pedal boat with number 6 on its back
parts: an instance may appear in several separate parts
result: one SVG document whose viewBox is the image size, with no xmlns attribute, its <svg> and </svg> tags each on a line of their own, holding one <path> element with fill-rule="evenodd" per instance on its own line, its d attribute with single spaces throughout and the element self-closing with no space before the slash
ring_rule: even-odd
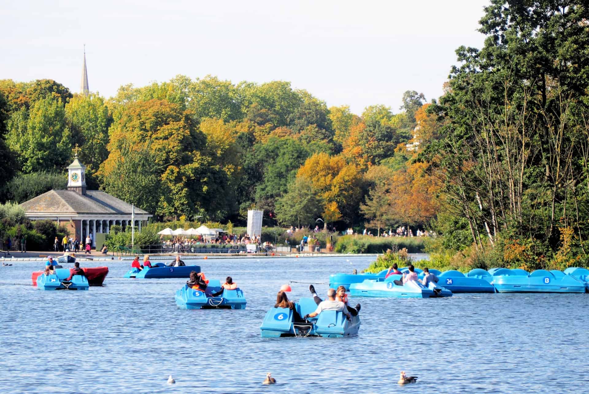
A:
<svg viewBox="0 0 589 394">
<path fill-rule="evenodd" d="M 300 316 L 313 313 L 317 309 L 315 300 L 303 297 L 294 303 Z M 287 336 L 322 336 L 339 338 L 358 335 L 360 317 L 352 316 L 349 322 L 343 312 L 324 310 L 316 317 L 310 317 L 306 322 L 294 322 L 293 311 L 288 308 L 272 308 L 266 312 L 260 331 L 263 338 L 277 338 Z"/>
</svg>

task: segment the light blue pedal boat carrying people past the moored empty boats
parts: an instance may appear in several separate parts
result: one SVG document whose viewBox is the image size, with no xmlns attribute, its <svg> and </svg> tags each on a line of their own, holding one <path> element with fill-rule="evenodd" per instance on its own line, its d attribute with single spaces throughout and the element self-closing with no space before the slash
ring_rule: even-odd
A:
<svg viewBox="0 0 589 394">
<path fill-rule="evenodd" d="M 410 280 L 399 286 L 394 280 L 402 280 L 402 275 L 391 275 L 386 279 L 366 279 L 362 283 L 350 284 L 350 295 L 360 297 L 430 298 L 451 297 L 452 292 L 436 283 L 428 287 L 421 282 Z"/>
</svg>

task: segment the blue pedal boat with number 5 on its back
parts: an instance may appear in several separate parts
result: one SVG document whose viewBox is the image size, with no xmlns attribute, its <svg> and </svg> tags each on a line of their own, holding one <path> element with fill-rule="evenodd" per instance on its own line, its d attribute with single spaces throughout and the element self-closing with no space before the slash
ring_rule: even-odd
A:
<svg viewBox="0 0 589 394">
<path fill-rule="evenodd" d="M 176 292 L 176 305 L 180 309 L 246 309 L 246 297 L 239 287 L 235 290 L 223 290 L 217 297 L 212 293 L 221 290 L 219 280 L 210 279 L 206 292 L 195 290 L 187 284 Z"/>
</svg>

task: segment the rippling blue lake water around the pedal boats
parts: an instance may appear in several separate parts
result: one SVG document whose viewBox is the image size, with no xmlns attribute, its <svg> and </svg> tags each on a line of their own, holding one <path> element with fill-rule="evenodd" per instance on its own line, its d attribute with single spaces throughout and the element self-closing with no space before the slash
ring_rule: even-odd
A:
<svg viewBox="0 0 589 394">
<path fill-rule="evenodd" d="M 327 283 L 373 257 L 197 260 L 209 279 L 233 277 L 245 310 L 181 310 L 183 279 L 123 279 L 103 287 L 30 286 L 43 263 L 0 267 L 0 390 L 9 393 L 404 392 L 580 393 L 587 374 L 589 294 L 455 294 L 360 302 L 357 337 L 262 339 L 260 324 L 289 280 Z M 104 262 L 82 263 L 100 266 Z M 293 283 L 290 299 L 309 296 Z M 318 293 L 327 284 L 316 284 Z M 396 385 L 399 371 L 418 376 Z M 277 384 L 262 386 L 266 372 Z M 176 385 L 167 385 L 168 375 Z"/>
</svg>

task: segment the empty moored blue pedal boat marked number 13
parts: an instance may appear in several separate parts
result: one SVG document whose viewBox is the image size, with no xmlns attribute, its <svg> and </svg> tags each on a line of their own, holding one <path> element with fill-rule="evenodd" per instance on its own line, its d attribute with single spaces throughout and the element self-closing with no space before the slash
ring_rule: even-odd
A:
<svg viewBox="0 0 589 394">
<path fill-rule="evenodd" d="M 489 270 L 491 272 L 491 270 Z M 585 284 L 573 276 L 557 271 L 525 270 L 507 268 L 493 269 L 491 284 L 499 293 L 584 293 Z"/>
</svg>

